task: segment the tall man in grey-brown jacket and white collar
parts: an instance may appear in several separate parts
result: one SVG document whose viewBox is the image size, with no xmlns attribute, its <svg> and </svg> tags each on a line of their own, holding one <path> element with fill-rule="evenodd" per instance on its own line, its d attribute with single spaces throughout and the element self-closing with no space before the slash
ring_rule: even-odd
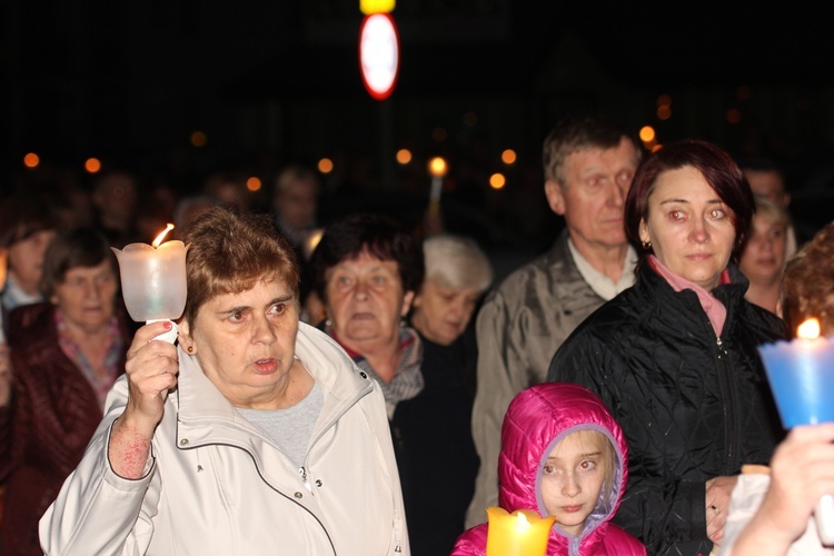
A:
<svg viewBox="0 0 834 556">
<path fill-rule="evenodd" d="M 466 526 L 498 505 L 500 428 L 509 401 L 543 383 L 562 342 L 597 307 L 634 284 L 637 256 L 623 207 L 641 159 L 634 140 L 593 118 L 556 125 L 544 142 L 545 196 L 565 218 L 553 248 L 494 289 L 478 314 L 473 437 L 480 456 Z"/>
</svg>

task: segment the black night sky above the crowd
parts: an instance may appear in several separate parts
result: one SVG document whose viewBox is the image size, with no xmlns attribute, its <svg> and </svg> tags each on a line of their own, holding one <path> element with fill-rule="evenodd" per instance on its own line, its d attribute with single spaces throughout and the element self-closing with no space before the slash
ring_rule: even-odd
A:
<svg viewBox="0 0 834 556">
<path fill-rule="evenodd" d="M 27 152 L 73 170 L 96 156 L 193 190 L 219 169 L 268 175 L 330 157 L 399 190 L 425 172 L 393 171 L 383 159 L 398 148 L 484 175 L 514 148 L 514 190 L 540 186 L 554 121 L 595 111 L 635 133 L 651 125 L 661 142 L 775 157 L 795 189 L 830 187 L 825 6 L 401 0 L 401 72 L 380 103 L 359 77 L 358 0 L 7 0 L 3 175 L 20 182 Z M 197 130 L 205 147 L 190 143 Z"/>
</svg>

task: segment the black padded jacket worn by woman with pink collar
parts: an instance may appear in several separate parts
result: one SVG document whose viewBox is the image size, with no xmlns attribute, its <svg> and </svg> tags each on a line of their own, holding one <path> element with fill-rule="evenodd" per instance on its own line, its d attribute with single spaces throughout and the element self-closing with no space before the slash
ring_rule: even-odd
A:
<svg viewBox="0 0 834 556">
<path fill-rule="evenodd" d="M 728 275 L 713 290 L 727 309 L 721 337 L 693 290 L 644 264 L 550 363 L 548 380 L 588 387 L 623 427 L 629 480 L 614 522 L 649 554 L 709 554 L 706 480 L 768 463 L 784 436 L 756 351 L 785 337 L 784 322 L 744 299 L 735 267 Z"/>
</svg>

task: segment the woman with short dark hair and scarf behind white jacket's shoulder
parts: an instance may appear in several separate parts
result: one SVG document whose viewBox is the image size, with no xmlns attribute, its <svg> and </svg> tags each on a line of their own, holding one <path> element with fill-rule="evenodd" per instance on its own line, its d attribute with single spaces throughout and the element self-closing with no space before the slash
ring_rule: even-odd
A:
<svg viewBox="0 0 834 556">
<path fill-rule="evenodd" d="M 423 284 L 423 245 L 385 216 L 351 215 L 328 226 L 311 266 L 325 331 L 385 394 L 411 549 L 447 555 L 478 463 L 466 389 L 424 367 L 421 338 L 405 321 Z"/>
</svg>

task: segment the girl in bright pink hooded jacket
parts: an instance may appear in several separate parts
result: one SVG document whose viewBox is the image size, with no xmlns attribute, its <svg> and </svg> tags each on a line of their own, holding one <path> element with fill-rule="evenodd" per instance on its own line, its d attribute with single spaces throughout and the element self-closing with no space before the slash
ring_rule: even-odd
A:
<svg viewBox="0 0 834 556">
<path fill-rule="evenodd" d="M 610 523 L 625 492 L 628 448 L 602 400 L 575 384 L 545 383 L 518 394 L 502 428 L 498 502 L 509 513 L 555 515 L 547 556 L 644 556 Z M 487 524 L 465 532 L 453 556 L 486 554 Z"/>
</svg>

